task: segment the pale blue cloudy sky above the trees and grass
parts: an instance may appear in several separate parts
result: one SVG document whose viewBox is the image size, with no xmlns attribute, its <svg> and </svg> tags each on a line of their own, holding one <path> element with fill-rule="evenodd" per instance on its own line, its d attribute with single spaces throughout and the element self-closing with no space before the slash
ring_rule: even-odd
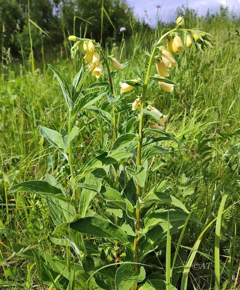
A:
<svg viewBox="0 0 240 290">
<path fill-rule="evenodd" d="M 156 16 L 157 8 L 156 5 L 160 5 L 159 14 L 162 16 L 162 20 L 175 18 L 175 11 L 177 6 L 186 4 L 185 0 L 127 0 L 130 6 L 134 6 L 135 14 L 138 16 L 144 16 L 144 10 L 147 11 L 148 19 L 151 19 L 153 25 L 155 23 L 154 17 Z M 210 9 L 212 12 L 219 10 L 219 6 L 229 6 L 229 10 L 239 15 L 240 11 L 240 0 L 188 0 L 189 8 L 196 9 L 199 15 L 206 14 L 207 10 Z M 145 17 L 147 19 L 147 17 Z M 150 24 L 150 23 L 149 23 Z"/>
</svg>

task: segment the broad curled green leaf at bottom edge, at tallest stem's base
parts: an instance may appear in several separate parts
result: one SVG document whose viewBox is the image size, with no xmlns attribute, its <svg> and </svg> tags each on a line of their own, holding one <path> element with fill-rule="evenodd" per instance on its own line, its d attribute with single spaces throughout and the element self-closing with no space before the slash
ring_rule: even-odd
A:
<svg viewBox="0 0 240 290">
<path fill-rule="evenodd" d="M 139 271 L 135 273 L 131 264 L 123 264 L 116 271 L 116 290 L 129 290 L 134 283 L 142 282 L 145 276 L 144 267 L 140 267 Z"/>
</svg>

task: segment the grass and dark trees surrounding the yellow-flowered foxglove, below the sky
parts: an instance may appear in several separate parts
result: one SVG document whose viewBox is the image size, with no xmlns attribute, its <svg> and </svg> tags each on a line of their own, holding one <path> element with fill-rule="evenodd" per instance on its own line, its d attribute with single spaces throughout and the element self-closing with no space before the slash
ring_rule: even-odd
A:
<svg viewBox="0 0 240 290">
<path fill-rule="evenodd" d="M 42 273 L 38 260 L 10 257 L 13 252 L 11 243 L 37 244 L 41 249 L 62 257 L 66 255 L 65 247 L 50 238 L 54 224 L 43 198 L 21 192 L 8 194 L 7 191 L 14 182 L 43 179 L 46 172 L 65 184 L 66 173 L 70 174 L 66 160 L 39 135 L 39 125 L 59 131 L 67 114 L 57 80 L 46 63 L 61 71 L 68 81 L 72 80 L 83 62 L 82 59 L 70 59 L 71 43 L 67 37 L 73 34 L 74 17 L 92 23 L 76 18 L 76 35 L 80 31 L 82 36 L 86 34 L 100 41 L 102 3 L 76 0 L 75 3 L 64 1 L 60 5 L 58 1 L 31 1 L 30 19 L 50 35 L 44 36 L 36 25 L 30 23 L 32 55 L 27 1 L 0 0 L 0 7 L 1 25 L 4 25 L 0 87 L 0 261 L 6 266 L 0 268 L 0 289 L 41 289 Z M 94 14 L 92 7 L 96 8 Z M 123 80 L 123 74 L 126 79 L 135 75 L 143 78 L 147 65 L 143 54 L 145 46 L 150 50 L 161 29 L 171 27 L 171 23 L 159 22 L 155 29 L 151 29 L 132 18 L 131 8 L 125 13 L 127 6 L 124 1 L 105 0 L 104 7 L 107 13 L 103 12 L 102 41 L 105 42 L 106 54 L 113 54 L 121 63 L 131 59 L 124 73 L 114 78 L 115 90 L 119 92 L 118 82 Z M 201 18 L 186 6 L 179 8 L 177 13 L 184 16 L 186 26 L 201 27 L 211 33 L 215 46 L 204 54 L 192 48 L 177 55 L 178 66 L 171 71 L 171 79 L 181 85 L 172 94 L 162 91 L 156 83 L 149 86 L 153 105 L 168 113 L 166 131 L 182 140 L 190 151 L 179 150 L 175 157 L 156 157 L 158 162 L 148 176 L 148 183 L 149 187 L 161 183 L 162 188 L 190 209 L 209 182 L 220 177 L 220 185 L 213 183 L 208 187 L 195 212 L 197 218 L 205 223 L 217 216 L 223 191 L 228 194 L 225 208 L 239 201 L 240 38 L 234 32 L 239 27 L 239 17 L 228 17 L 228 10 L 223 7 L 220 13 L 208 13 Z M 16 27 L 17 23 L 19 27 Z M 124 38 L 119 31 L 121 26 L 126 27 Z M 101 77 L 101 81 L 104 80 L 107 80 L 106 73 Z M 90 82 L 91 76 L 86 86 Z M 123 95 L 122 103 L 133 102 L 135 94 L 138 95 L 137 89 Z M 125 118 L 120 116 L 118 124 Z M 74 125 L 80 128 L 74 141 L 74 163 L 78 170 L 87 162 L 88 153 L 101 147 L 99 140 L 109 133 L 109 128 L 100 117 L 87 110 L 78 116 Z M 101 210 L 98 200 L 94 200 L 92 207 Z M 182 244 L 191 247 L 200 232 L 201 225 L 189 228 Z M 239 205 L 235 204 L 222 218 L 222 289 L 232 289 L 230 285 L 233 284 L 239 286 L 239 281 L 236 281 L 239 234 Z M 215 224 L 202 239 L 196 256 L 200 265 L 214 260 L 214 237 Z M 154 256 L 153 261 L 158 262 Z M 193 289 L 193 285 L 195 289 L 212 289 L 213 264 L 209 269 L 190 272 L 189 289 Z"/>
</svg>

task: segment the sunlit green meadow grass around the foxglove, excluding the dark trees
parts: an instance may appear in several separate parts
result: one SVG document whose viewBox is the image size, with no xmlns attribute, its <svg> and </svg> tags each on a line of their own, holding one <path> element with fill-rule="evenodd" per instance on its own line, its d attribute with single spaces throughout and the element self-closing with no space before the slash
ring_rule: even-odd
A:
<svg viewBox="0 0 240 290">
<path fill-rule="evenodd" d="M 181 243 L 182 251 L 189 251 L 193 247 L 203 225 L 209 224 L 218 216 L 219 207 L 221 209 L 220 205 L 226 198 L 223 208 L 228 210 L 221 217 L 220 227 L 218 224 L 216 228 L 216 223 L 213 222 L 200 240 L 193 261 L 199 267 L 190 269 L 188 289 L 214 289 L 216 259 L 220 267 L 221 289 L 238 289 L 240 38 L 235 35 L 227 36 L 227 32 L 234 33 L 239 21 L 236 23 L 221 17 L 213 17 L 207 21 L 191 19 L 185 21 L 185 26 L 201 27 L 201 30 L 210 33 L 215 42 L 212 50 L 201 53 L 194 47 L 190 50 L 184 48 L 175 56 L 177 66 L 171 70 L 171 80 L 180 85 L 174 88 L 173 93 L 167 93 L 160 89 L 157 82 L 151 81 L 148 99 L 153 106 L 168 114 L 166 132 L 177 137 L 190 150 L 178 148 L 170 141 L 165 142 L 165 146 L 178 155 L 156 156 L 149 160 L 149 166 L 153 159 L 154 163 L 148 171 L 145 190 L 148 192 L 148 189 L 158 185 L 161 191 L 175 196 L 189 211 L 204 191 L 194 209 L 194 216 L 200 223 L 187 226 Z M 126 39 L 124 47 L 122 42 L 105 48 L 105 54 L 113 54 L 120 63 L 131 59 L 129 66 L 113 77 L 116 95 L 120 93 L 119 81 L 134 79 L 137 75 L 144 79 L 149 59 L 144 53 L 145 46 L 150 52 L 163 28 L 165 27 L 155 30 L 147 28 L 146 31 L 143 27 L 142 31 L 135 32 L 133 27 L 133 37 Z M 69 44 L 67 48 L 70 48 Z M 68 59 L 61 57 L 59 53 L 56 57 L 47 55 L 45 64 L 36 61 L 35 73 L 32 72 L 31 61 L 28 59 L 25 59 L 25 65 L 14 59 L 8 63 L 4 61 L 0 86 L 0 262 L 3 266 L 0 268 L 0 289 L 43 289 L 45 275 L 50 275 L 47 258 L 39 258 L 37 250 L 36 253 L 33 251 L 35 254 L 31 259 L 24 254 L 11 256 L 13 242 L 27 246 L 38 245 L 34 249 L 45 250 L 56 257 L 70 257 L 71 261 L 78 263 L 74 252 L 66 250 L 65 240 L 61 245 L 59 237 L 52 235 L 55 226 L 45 198 L 24 191 L 7 192 L 16 182 L 42 180 L 46 173 L 53 175 L 65 188 L 69 187 L 66 176 L 70 175 L 70 169 L 65 157 L 39 134 L 39 125 L 57 131 L 61 126 L 68 126 L 68 111 L 61 89 L 56 77 L 46 66 L 46 63 L 54 66 L 70 83 L 83 58 L 72 60 L 70 50 L 67 52 Z M 84 88 L 94 81 L 89 74 Z M 106 67 L 99 81 L 108 81 Z M 122 94 L 119 102 L 132 103 L 136 95 L 140 94 L 137 87 Z M 98 102 L 100 104 L 102 100 Z M 130 109 L 118 115 L 117 126 L 131 113 Z M 73 162 L 77 172 L 89 161 L 92 150 L 103 148 L 107 134 L 110 141 L 113 136 L 103 118 L 90 110 L 81 111 L 73 125 L 79 128 L 73 141 Z M 137 132 L 138 123 L 134 126 L 133 132 Z M 126 165 L 131 166 L 130 160 Z M 99 212 L 103 207 L 104 203 L 96 198 L 90 204 L 91 209 Z M 171 253 L 174 253 L 179 235 L 179 231 L 172 235 Z M 85 236 L 87 240 L 98 244 L 98 239 L 94 240 L 91 235 Z M 165 245 L 166 243 L 164 247 Z M 163 267 L 166 256 L 164 247 L 157 249 L 157 254 L 145 261 L 155 265 L 152 270 L 148 268 L 149 275 L 151 271 L 156 272 Z M 216 255 L 217 249 L 219 255 Z M 206 263 L 210 263 L 209 267 Z M 59 274 L 52 289 L 55 286 L 66 289 L 66 286 L 58 284 L 61 279 L 65 278 L 61 278 Z M 180 289 L 180 285 L 181 276 L 176 288 Z M 94 289 L 91 287 L 93 286 L 85 289 Z M 51 288 L 49 286 L 46 289 Z"/>
</svg>

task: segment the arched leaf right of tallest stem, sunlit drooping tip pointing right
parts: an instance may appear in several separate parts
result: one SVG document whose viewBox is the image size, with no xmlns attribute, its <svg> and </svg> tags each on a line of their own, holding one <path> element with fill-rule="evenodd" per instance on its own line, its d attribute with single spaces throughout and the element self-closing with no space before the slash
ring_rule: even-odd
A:
<svg viewBox="0 0 240 290">
<path fill-rule="evenodd" d="M 167 194 L 165 192 L 159 192 L 159 191 L 154 191 L 146 195 L 142 201 L 141 207 L 148 206 L 149 204 L 153 204 L 156 202 L 171 204 L 173 206 L 179 207 L 180 209 L 183 209 L 186 213 L 189 213 L 189 211 L 182 204 L 182 202 L 177 200 L 176 197 L 174 197 L 173 195 Z"/>
</svg>

